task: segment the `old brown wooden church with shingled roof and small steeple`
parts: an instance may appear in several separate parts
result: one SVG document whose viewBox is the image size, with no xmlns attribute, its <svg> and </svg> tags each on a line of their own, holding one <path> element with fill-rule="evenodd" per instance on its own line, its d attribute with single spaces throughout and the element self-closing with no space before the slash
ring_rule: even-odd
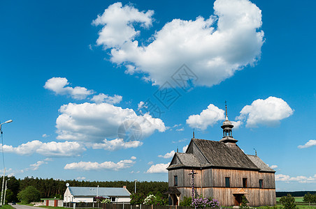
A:
<svg viewBox="0 0 316 209">
<path fill-rule="evenodd" d="M 275 171 L 257 153 L 246 155 L 237 146 L 227 109 L 221 127 L 220 141 L 195 139 L 193 134 L 187 151 L 173 156 L 166 192 L 172 204 L 179 205 L 184 196 L 202 195 L 217 199 L 220 206 L 240 206 L 243 196 L 249 206 L 275 206 Z"/>
</svg>

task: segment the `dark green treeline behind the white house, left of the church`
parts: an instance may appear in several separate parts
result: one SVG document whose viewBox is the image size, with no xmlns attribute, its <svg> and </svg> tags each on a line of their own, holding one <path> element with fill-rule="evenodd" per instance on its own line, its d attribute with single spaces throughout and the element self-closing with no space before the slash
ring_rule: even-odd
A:
<svg viewBox="0 0 316 209">
<path fill-rule="evenodd" d="M 0 178 L 2 182 L 2 178 Z M 88 181 L 88 180 L 60 180 L 53 178 L 37 178 L 25 177 L 23 179 L 15 178 L 15 176 L 5 176 L 8 180 L 8 189 L 6 199 L 10 201 L 18 201 L 17 194 L 28 186 L 34 186 L 41 192 L 41 199 L 64 199 L 64 192 L 66 191 L 66 183 L 70 187 L 123 187 L 126 186 L 127 190 L 133 194 L 135 192 L 135 182 L 129 180 L 113 180 L 113 181 Z M 136 193 L 140 192 L 145 195 L 156 194 L 160 192 L 164 194 L 168 190 L 168 183 L 163 181 L 138 181 L 136 182 Z M 10 194 L 12 192 L 12 194 Z"/>
</svg>

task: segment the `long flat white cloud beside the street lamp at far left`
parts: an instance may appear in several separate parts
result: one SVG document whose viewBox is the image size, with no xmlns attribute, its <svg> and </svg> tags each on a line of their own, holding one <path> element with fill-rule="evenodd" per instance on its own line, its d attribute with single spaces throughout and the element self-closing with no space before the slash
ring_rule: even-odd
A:
<svg viewBox="0 0 316 209">
<path fill-rule="evenodd" d="M 3 145 L 3 150 L 7 153 L 16 153 L 18 155 L 31 155 L 38 153 L 44 156 L 50 157 L 70 157 L 78 156 L 85 147 L 76 141 L 65 141 L 65 142 L 41 142 L 38 140 L 28 141 L 26 144 L 21 144 L 17 147 Z"/>
</svg>

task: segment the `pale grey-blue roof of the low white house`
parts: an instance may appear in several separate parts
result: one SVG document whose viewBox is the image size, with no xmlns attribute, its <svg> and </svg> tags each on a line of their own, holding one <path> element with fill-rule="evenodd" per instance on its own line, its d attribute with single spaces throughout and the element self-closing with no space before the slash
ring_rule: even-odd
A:
<svg viewBox="0 0 316 209">
<path fill-rule="evenodd" d="M 69 187 L 73 196 L 130 196 L 131 193 L 124 187 Z"/>
</svg>

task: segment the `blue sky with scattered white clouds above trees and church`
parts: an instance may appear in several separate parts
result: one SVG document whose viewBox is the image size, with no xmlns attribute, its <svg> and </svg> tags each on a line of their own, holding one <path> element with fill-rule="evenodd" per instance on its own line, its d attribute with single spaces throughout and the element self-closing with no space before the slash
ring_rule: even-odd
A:
<svg viewBox="0 0 316 209">
<path fill-rule="evenodd" d="M 7 173 L 166 181 L 194 128 L 196 138 L 222 138 L 227 100 L 238 146 L 277 171 L 277 190 L 315 189 L 313 8 L 1 1 L 0 120 L 13 119 L 2 126 Z M 183 72 L 191 79 L 176 83 Z M 135 137 L 118 135 L 121 125 Z"/>
</svg>

